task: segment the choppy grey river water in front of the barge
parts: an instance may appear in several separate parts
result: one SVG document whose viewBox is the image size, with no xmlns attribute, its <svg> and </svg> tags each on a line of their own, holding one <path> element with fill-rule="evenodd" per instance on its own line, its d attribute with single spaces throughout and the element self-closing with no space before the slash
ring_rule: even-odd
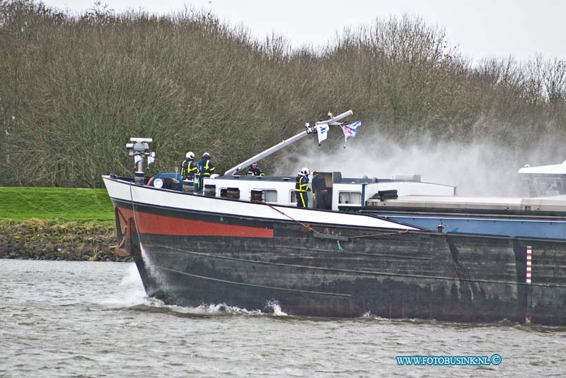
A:
<svg viewBox="0 0 566 378">
<path fill-rule="evenodd" d="M 0 377 L 566 376 L 566 327 L 275 309 L 163 305 L 144 295 L 130 263 L 0 259 Z M 495 353 L 499 365 L 402 366 L 395 358 Z"/>
</svg>

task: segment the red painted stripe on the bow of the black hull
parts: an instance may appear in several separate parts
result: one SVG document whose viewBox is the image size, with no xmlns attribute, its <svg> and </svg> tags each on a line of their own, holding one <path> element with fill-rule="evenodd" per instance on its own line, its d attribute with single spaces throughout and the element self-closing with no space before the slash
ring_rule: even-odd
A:
<svg viewBox="0 0 566 378">
<path fill-rule="evenodd" d="M 142 234 L 178 235 L 178 236 L 233 236 L 233 237 L 273 237 L 271 228 L 257 228 L 224 223 L 205 222 L 173 218 L 164 215 L 143 213 L 119 208 L 123 219 L 132 218 L 137 221 L 137 230 Z"/>
</svg>

